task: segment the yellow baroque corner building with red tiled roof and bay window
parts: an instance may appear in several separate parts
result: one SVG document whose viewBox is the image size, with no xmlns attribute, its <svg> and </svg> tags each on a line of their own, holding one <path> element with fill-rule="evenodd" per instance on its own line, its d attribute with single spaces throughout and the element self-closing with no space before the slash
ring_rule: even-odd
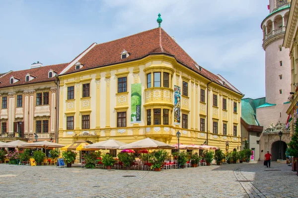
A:
<svg viewBox="0 0 298 198">
<path fill-rule="evenodd" d="M 59 143 L 152 138 L 241 145 L 243 95 L 199 66 L 162 28 L 92 44 L 60 73 Z"/>
</svg>

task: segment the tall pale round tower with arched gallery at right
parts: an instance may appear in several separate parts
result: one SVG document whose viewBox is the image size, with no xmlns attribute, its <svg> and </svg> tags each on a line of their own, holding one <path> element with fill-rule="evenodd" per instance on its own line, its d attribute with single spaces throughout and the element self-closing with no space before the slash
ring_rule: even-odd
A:
<svg viewBox="0 0 298 198">
<path fill-rule="evenodd" d="M 260 150 L 270 152 L 275 152 L 275 148 L 269 141 L 267 128 L 278 123 L 285 124 L 288 118 L 286 111 L 290 106 L 291 62 L 289 49 L 282 47 L 290 5 L 291 0 L 269 0 L 270 13 L 261 23 L 265 50 L 266 101 L 256 107 L 256 118 L 266 131 L 260 137 Z M 260 153 L 260 160 L 263 159 L 264 153 Z"/>
</svg>

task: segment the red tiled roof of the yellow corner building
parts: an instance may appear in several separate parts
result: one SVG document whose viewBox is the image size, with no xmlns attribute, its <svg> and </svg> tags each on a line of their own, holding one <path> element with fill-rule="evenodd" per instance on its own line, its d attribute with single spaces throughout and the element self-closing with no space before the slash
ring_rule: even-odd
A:
<svg viewBox="0 0 298 198">
<path fill-rule="evenodd" d="M 161 35 L 160 38 L 159 35 Z M 125 59 L 121 59 L 120 55 L 123 49 L 131 54 Z M 202 68 L 202 71 L 200 71 L 196 67 L 196 65 L 199 66 L 196 61 L 194 61 L 162 28 L 155 28 L 107 43 L 97 44 L 78 60 L 84 65 L 79 71 L 132 61 L 154 53 L 172 55 L 179 63 L 213 80 L 215 83 L 222 85 L 219 83 L 221 79 L 217 75 L 205 68 Z M 77 71 L 78 70 L 75 70 L 75 66 L 72 66 L 65 74 Z M 228 85 L 223 87 L 235 92 L 235 90 Z M 240 92 L 238 93 L 241 94 Z"/>
</svg>

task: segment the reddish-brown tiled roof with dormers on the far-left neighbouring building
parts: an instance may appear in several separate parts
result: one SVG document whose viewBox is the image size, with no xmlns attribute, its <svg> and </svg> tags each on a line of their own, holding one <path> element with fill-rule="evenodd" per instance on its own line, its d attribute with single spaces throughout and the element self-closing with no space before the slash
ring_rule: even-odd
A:
<svg viewBox="0 0 298 198">
<path fill-rule="evenodd" d="M 62 63 L 62 64 L 57 64 L 57 65 L 42 66 L 42 67 L 34 68 L 34 69 L 12 71 L 9 73 L 9 75 L 5 75 L 0 78 L 0 88 L 54 81 L 56 79 L 55 77 L 48 78 L 48 71 L 50 69 L 52 69 L 53 71 L 57 71 L 59 74 L 59 72 L 61 72 L 68 64 L 69 63 Z M 31 81 L 26 82 L 25 76 L 27 73 L 30 74 L 31 76 L 36 77 L 36 78 L 32 79 Z M 13 84 L 10 84 L 9 79 L 11 76 L 13 76 L 14 78 L 20 79 L 20 80 Z"/>
</svg>

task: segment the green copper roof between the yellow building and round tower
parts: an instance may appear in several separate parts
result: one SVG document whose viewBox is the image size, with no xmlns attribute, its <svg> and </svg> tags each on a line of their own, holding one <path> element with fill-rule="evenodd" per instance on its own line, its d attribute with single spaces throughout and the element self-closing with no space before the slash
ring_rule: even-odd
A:
<svg viewBox="0 0 298 198">
<path fill-rule="evenodd" d="M 260 126 L 256 118 L 256 107 L 264 104 L 266 98 L 241 99 L 241 117 L 249 125 Z"/>
</svg>

